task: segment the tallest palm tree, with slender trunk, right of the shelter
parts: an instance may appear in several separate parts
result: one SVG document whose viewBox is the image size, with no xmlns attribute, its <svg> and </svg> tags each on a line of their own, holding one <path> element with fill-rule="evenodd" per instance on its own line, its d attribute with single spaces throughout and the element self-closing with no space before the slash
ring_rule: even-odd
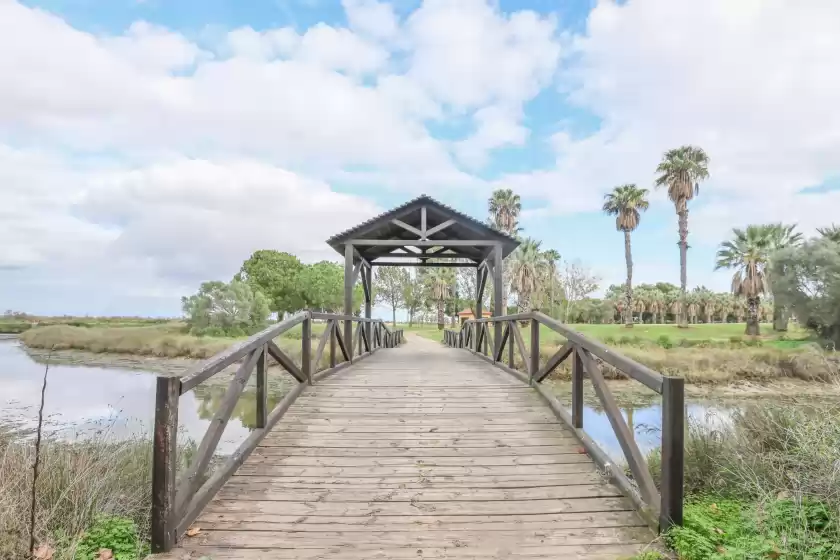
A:
<svg viewBox="0 0 840 560">
<path fill-rule="evenodd" d="M 688 258 L 688 201 L 700 193 L 700 181 L 709 177 L 709 156 L 702 148 L 682 146 L 668 150 L 656 168 L 659 176 L 657 187 L 668 189 L 668 198 L 677 210 L 680 233 L 680 290 L 685 300 L 687 280 L 686 259 Z M 685 305 L 680 307 L 677 318 L 685 326 Z"/>
</svg>

